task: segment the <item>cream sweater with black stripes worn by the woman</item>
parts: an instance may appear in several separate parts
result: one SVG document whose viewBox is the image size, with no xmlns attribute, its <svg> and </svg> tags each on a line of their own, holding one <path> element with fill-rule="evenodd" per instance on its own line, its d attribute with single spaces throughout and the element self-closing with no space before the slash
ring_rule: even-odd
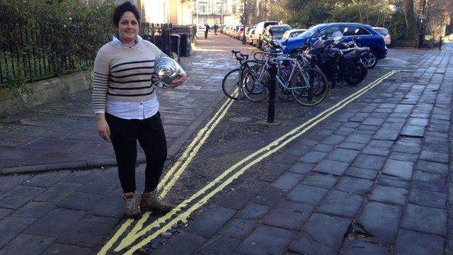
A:
<svg viewBox="0 0 453 255">
<path fill-rule="evenodd" d="M 93 108 L 105 111 L 105 101 L 149 101 L 159 84 L 154 61 L 164 56 L 156 45 L 138 37 L 134 46 L 114 38 L 103 45 L 93 66 Z"/>
</svg>

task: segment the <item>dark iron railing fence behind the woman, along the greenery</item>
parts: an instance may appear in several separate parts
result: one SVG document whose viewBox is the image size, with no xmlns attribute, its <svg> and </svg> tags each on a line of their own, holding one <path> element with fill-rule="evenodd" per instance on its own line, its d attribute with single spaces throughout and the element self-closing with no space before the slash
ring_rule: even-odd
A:
<svg viewBox="0 0 453 255">
<path fill-rule="evenodd" d="M 65 30 L 1 26 L 5 29 L 0 29 L 0 87 L 88 69 L 98 49 L 112 38 L 110 31 L 96 33 L 83 23 Z M 139 34 L 170 54 L 171 24 L 142 23 Z"/>
</svg>

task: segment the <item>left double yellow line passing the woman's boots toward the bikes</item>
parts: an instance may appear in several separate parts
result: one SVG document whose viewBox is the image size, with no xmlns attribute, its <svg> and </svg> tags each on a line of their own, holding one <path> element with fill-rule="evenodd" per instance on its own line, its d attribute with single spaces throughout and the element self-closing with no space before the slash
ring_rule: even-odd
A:
<svg viewBox="0 0 453 255">
<path fill-rule="evenodd" d="M 195 157 L 195 154 L 197 154 L 198 150 L 203 145 L 203 143 L 205 142 L 207 137 L 210 135 L 212 130 L 214 130 L 214 128 L 219 123 L 219 121 L 222 120 L 222 118 L 224 118 L 226 111 L 228 111 L 228 109 L 231 107 L 231 104 L 233 102 L 234 101 L 231 99 L 226 100 L 224 102 L 224 104 L 219 108 L 217 113 L 214 114 L 214 116 L 205 125 L 205 127 L 202 128 L 202 130 L 200 130 L 199 132 L 197 132 L 196 137 L 194 138 L 194 140 L 192 142 L 190 142 L 190 145 L 188 147 L 186 147 L 183 154 L 181 154 L 181 157 L 178 158 L 176 164 L 174 164 L 171 167 L 171 169 L 167 172 L 167 174 L 164 176 L 162 181 L 159 183 L 158 189 L 160 189 L 162 186 L 164 186 L 164 183 L 166 183 L 166 181 L 168 181 L 168 179 L 170 179 L 171 177 L 173 177 L 173 178 L 166 185 L 166 189 L 164 190 L 166 192 L 164 193 L 164 195 L 161 195 L 162 197 L 164 197 L 166 195 L 166 193 L 168 192 L 168 190 L 176 183 L 176 180 L 183 173 L 183 171 L 188 166 L 188 164 L 192 161 L 193 157 Z M 214 124 L 212 124 L 212 123 L 214 123 Z M 192 150 L 193 147 L 195 147 L 194 150 Z M 178 167 L 180 166 L 180 164 L 182 162 L 184 162 L 183 166 L 181 166 L 181 168 L 176 172 L 176 174 L 174 174 L 174 172 L 176 171 L 176 169 L 178 169 Z M 127 234 L 127 237 L 125 237 L 125 239 L 123 239 L 122 242 L 124 242 L 127 239 L 134 240 L 135 234 L 137 234 L 137 232 L 140 229 L 142 229 L 144 222 L 146 222 L 148 220 L 150 215 L 151 215 L 151 212 L 145 212 L 142 215 L 142 217 L 140 218 L 140 220 L 137 222 L 137 225 L 134 226 L 134 228 Z M 115 244 L 115 242 L 117 242 L 117 239 L 119 239 L 121 237 L 121 235 L 127 230 L 127 228 L 130 227 L 130 225 L 132 225 L 132 222 L 134 222 L 133 219 L 127 219 L 122 224 L 120 229 L 118 229 L 117 232 L 113 235 L 113 237 L 103 246 L 101 251 L 98 252 L 98 254 L 99 255 L 107 254 L 107 251 L 113 246 L 113 244 Z"/>
</svg>

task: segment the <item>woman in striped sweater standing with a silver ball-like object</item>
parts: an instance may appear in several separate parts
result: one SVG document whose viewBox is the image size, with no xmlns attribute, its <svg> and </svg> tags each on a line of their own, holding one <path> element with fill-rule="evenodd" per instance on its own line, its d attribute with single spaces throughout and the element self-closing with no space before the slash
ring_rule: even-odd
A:
<svg viewBox="0 0 453 255">
<path fill-rule="evenodd" d="M 112 141 L 118 175 L 124 194 L 125 213 L 138 217 L 142 211 L 168 212 L 155 191 L 167 156 L 153 74 L 154 61 L 166 56 L 156 45 L 139 35 L 140 15 L 125 2 L 113 11 L 113 40 L 98 51 L 93 66 L 93 108 L 98 132 Z M 181 69 L 178 79 L 169 84 L 176 88 L 186 79 Z M 145 187 L 140 204 L 135 191 L 137 140 L 147 157 Z"/>
</svg>

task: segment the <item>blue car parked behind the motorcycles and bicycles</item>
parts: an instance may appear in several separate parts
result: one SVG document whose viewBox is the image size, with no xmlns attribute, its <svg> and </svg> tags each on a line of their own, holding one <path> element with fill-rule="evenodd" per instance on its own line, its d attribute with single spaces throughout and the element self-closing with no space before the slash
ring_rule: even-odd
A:
<svg viewBox="0 0 453 255">
<path fill-rule="evenodd" d="M 360 23 L 323 23 L 312 26 L 296 38 L 279 40 L 279 42 L 283 45 L 283 53 L 288 53 L 294 47 L 301 47 L 304 42 L 314 43 L 319 36 L 323 37 L 324 35 L 333 38 L 343 35 L 345 36 L 344 42 L 349 42 L 352 40 L 352 36 L 356 35 L 358 37 L 357 45 L 369 47 L 376 60 L 381 60 L 387 55 L 384 36 L 374 31 L 371 26 Z"/>
</svg>

